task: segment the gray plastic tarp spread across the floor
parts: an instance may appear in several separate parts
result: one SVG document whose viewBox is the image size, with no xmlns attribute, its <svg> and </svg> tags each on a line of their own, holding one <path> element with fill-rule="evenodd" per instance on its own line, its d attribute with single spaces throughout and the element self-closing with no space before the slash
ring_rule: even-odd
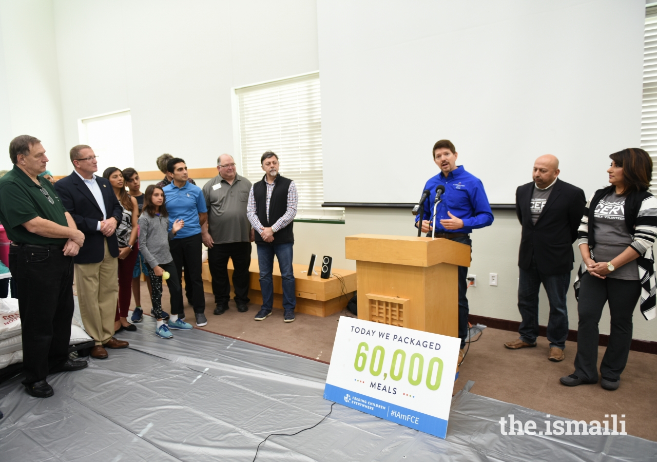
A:
<svg viewBox="0 0 657 462">
<path fill-rule="evenodd" d="M 130 348 L 49 377 L 52 398 L 0 386 L 0 460 L 251 461 L 270 433 L 293 433 L 329 411 L 328 366 L 200 331 L 156 337 L 145 317 Z M 246 321 L 245 321 L 246 322 Z M 272 326 L 272 329 L 275 326 Z M 447 439 L 336 404 L 321 425 L 273 436 L 259 461 L 648 461 L 657 443 L 633 436 L 503 436 L 510 413 L 545 415 L 462 391 Z"/>
</svg>

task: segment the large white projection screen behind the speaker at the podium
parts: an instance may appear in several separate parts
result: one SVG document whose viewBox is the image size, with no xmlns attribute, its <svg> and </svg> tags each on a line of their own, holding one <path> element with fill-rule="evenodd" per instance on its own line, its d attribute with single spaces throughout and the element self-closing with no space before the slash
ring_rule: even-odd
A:
<svg viewBox="0 0 657 462">
<path fill-rule="evenodd" d="M 644 19 L 643 0 L 319 0 L 325 200 L 419 200 L 445 138 L 493 204 L 546 153 L 590 195 L 640 144 Z"/>
</svg>

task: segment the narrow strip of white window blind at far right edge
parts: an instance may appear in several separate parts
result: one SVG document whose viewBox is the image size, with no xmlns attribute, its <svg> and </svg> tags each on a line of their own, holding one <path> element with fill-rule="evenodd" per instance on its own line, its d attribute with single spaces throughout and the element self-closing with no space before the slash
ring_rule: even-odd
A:
<svg viewBox="0 0 657 462">
<path fill-rule="evenodd" d="M 657 7 L 646 9 L 643 55 L 641 149 L 652 158 L 652 192 L 657 192 Z"/>
</svg>

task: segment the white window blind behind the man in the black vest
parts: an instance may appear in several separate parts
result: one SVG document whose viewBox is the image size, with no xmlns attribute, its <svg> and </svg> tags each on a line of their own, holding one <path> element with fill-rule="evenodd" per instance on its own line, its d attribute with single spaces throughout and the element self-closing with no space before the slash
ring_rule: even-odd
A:
<svg viewBox="0 0 657 462">
<path fill-rule="evenodd" d="M 242 175 L 252 183 L 265 174 L 260 157 L 279 156 L 281 175 L 294 180 L 296 218 L 342 219 L 344 209 L 325 208 L 319 73 L 235 90 Z"/>
</svg>

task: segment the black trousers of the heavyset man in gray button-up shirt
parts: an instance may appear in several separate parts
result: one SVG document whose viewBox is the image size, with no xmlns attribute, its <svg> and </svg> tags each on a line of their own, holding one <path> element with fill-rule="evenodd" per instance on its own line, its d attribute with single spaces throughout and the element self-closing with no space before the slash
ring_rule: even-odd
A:
<svg viewBox="0 0 657 462">
<path fill-rule="evenodd" d="M 247 304 L 251 243 L 214 244 L 208 249 L 208 265 L 212 275 L 212 293 L 217 305 L 231 299 L 231 281 L 228 279 L 228 258 L 233 260 L 233 287 L 235 303 Z"/>
</svg>

